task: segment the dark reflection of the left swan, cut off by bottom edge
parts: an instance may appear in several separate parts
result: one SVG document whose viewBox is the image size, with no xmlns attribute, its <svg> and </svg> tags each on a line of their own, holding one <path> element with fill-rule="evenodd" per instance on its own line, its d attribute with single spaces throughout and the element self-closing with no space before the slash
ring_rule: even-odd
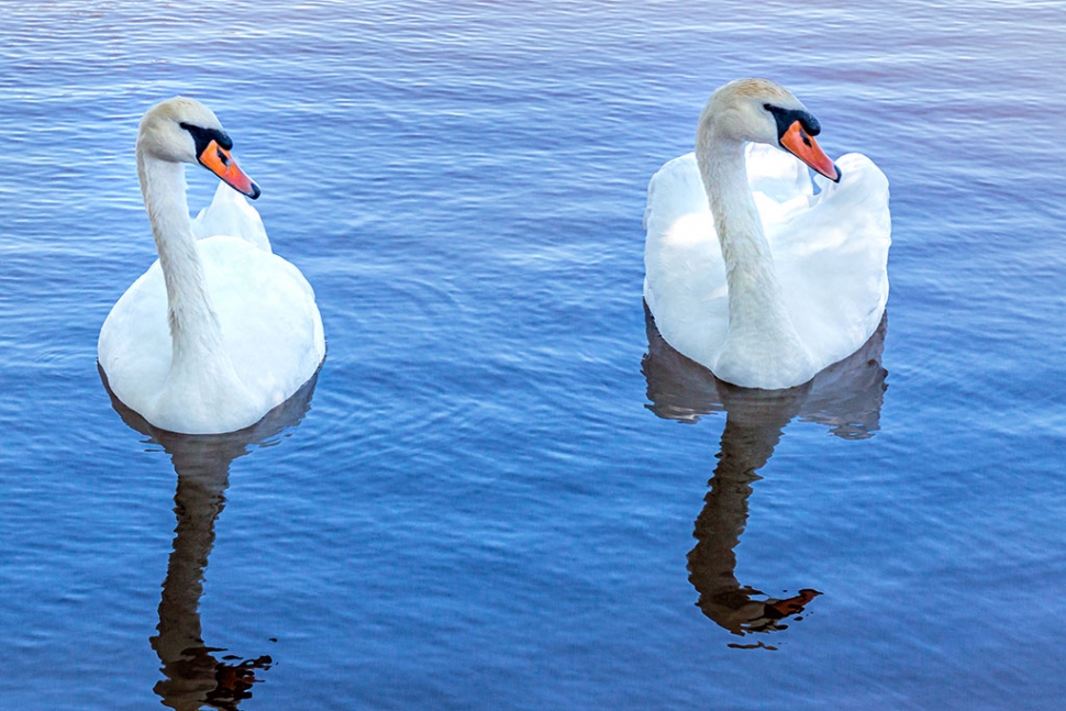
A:
<svg viewBox="0 0 1066 711">
<path fill-rule="evenodd" d="M 303 420 L 311 409 L 318 373 L 251 427 L 211 435 L 177 434 L 154 427 L 114 397 L 102 369 L 100 377 L 122 421 L 146 435 L 146 443 L 162 445 L 178 475 L 174 551 L 163 581 L 158 634 L 149 638 L 164 675 L 154 691 L 164 706 L 179 711 L 235 711 L 242 700 L 252 697 L 253 685 L 263 680 L 262 673 L 270 668 L 274 659 L 268 654 L 247 659 L 220 654 L 225 649 L 203 642 L 199 608 L 208 556 L 214 547 L 214 524 L 225 507 L 230 464 L 256 445 L 276 444 L 278 435 Z"/>
</svg>

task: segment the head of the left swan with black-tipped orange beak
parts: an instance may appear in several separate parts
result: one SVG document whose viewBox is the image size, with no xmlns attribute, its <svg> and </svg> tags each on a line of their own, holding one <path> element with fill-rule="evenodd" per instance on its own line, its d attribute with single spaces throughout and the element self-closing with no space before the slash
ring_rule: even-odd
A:
<svg viewBox="0 0 1066 711">
<path fill-rule="evenodd" d="M 169 163 L 199 164 L 253 200 L 259 186 L 230 155 L 233 141 L 211 109 L 195 99 L 175 97 L 148 109 L 141 119 L 137 153 Z"/>
</svg>

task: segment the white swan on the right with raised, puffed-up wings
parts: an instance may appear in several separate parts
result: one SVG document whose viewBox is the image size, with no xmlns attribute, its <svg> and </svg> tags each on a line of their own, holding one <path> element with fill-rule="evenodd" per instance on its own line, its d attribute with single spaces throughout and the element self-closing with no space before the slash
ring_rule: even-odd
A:
<svg viewBox="0 0 1066 711">
<path fill-rule="evenodd" d="M 644 300 L 666 342 L 726 382 L 807 382 L 885 312 L 888 179 L 860 154 L 834 165 L 819 132 L 784 87 L 731 81 L 708 100 L 695 153 L 648 184 Z"/>
</svg>

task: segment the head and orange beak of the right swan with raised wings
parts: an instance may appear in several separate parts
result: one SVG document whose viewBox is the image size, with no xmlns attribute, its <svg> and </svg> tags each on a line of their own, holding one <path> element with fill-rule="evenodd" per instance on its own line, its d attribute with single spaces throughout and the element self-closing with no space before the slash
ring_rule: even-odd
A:
<svg viewBox="0 0 1066 711">
<path fill-rule="evenodd" d="M 700 131 L 788 151 L 834 182 L 841 171 L 814 141 L 818 119 L 785 87 L 767 79 L 737 79 L 719 88 L 703 109 Z"/>
</svg>

